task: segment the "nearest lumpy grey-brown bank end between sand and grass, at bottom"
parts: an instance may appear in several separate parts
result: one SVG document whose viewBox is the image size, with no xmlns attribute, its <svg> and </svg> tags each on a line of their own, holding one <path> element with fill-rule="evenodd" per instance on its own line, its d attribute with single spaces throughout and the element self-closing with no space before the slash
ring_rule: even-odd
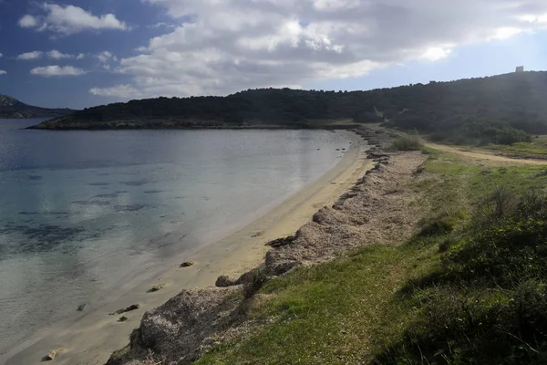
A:
<svg viewBox="0 0 547 365">
<path fill-rule="evenodd" d="M 160 308 L 144 314 L 130 337 L 128 348 L 114 354 L 108 365 L 153 357 L 158 362 L 191 364 L 214 335 L 243 319 L 237 309 L 243 298 L 234 287 L 184 290 Z M 153 355 L 150 355 L 153 354 Z"/>
</svg>

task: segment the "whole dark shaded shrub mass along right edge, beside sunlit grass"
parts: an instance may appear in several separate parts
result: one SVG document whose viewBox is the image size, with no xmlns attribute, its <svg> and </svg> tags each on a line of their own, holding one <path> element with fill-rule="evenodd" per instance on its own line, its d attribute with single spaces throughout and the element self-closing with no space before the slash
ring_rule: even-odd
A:
<svg viewBox="0 0 547 365">
<path fill-rule="evenodd" d="M 401 292 L 420 315 L 375 363 L 547 363 L 547 196 L 496 188 L 488 201 L 490 223 L 442 242 L 441 266 Z"/>
</svg>

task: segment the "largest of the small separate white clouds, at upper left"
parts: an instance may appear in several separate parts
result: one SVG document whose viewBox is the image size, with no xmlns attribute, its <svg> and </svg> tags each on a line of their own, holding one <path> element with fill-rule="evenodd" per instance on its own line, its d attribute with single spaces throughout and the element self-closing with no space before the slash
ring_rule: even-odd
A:
<svg viewBox="0 0 547 365">
<path fill-rule="evenodd" d="M 70 35 L 84 30 L 117 29 L 129 30 L 129 26 L 113 14 L 94 16 L 81 7 L 74 5 L 57 5 L 45 3 L 42 16 L 23 16 L 19 26 L 36 28 L 38 31 Z"/>
</svg>

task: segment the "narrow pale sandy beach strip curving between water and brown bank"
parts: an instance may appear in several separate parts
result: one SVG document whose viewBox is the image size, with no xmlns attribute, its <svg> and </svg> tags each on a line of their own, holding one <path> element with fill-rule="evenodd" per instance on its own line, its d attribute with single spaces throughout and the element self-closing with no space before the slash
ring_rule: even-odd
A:
<svg viewBox="0 0 547 365">
<path fill-rule="evenodd" d="M 192 287 L 210 287 L 218 276 L 236 276 L 263 262 L 269 247 L 265 243 L 276 238 L 293 235 L 312 215 L 325 205 L 335 203 L 363 176 L 372 162 L 366 160 L 366 142 L 356 133 L 339 131 L 353 142 L 342 160 L 325 172 L 315 183 L 304 187 L 259 217 L 252 224 L 220 241 L 202 247 L 181 260 L 195 261 L 194 266 L 170 266 L 129 289 L 129 292 L 108 304 L 96 308 L 76 321 L 61 323 L 39 331 L 31 339 L 5 354 L 5 364 L 39 363 L 48 351 L 64 348 L 56 363 L 104 364 L 111 352 L 124 347 L 133 328 L 139 327 L 142 314 L 174 297 L 181 290 Z M 165 284 L 156 293 L 147 293 L 156 284 Z M 129 312 L 126 322 L 108 313 L 139 303 L 140 308 Z"/>
</svg>

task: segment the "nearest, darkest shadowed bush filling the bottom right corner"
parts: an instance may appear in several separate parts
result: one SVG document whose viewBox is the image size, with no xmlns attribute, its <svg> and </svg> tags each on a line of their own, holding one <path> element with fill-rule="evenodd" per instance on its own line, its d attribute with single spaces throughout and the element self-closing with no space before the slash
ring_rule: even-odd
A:
<svg viewBox="0 0 547 365">
<path fill-rule="evenodd" d="M 545 364 L 547 290 L 522 283 L 498 300 L 439 289 L 404 342 L 377 357 L 378 364 Z"/>
</svg>

